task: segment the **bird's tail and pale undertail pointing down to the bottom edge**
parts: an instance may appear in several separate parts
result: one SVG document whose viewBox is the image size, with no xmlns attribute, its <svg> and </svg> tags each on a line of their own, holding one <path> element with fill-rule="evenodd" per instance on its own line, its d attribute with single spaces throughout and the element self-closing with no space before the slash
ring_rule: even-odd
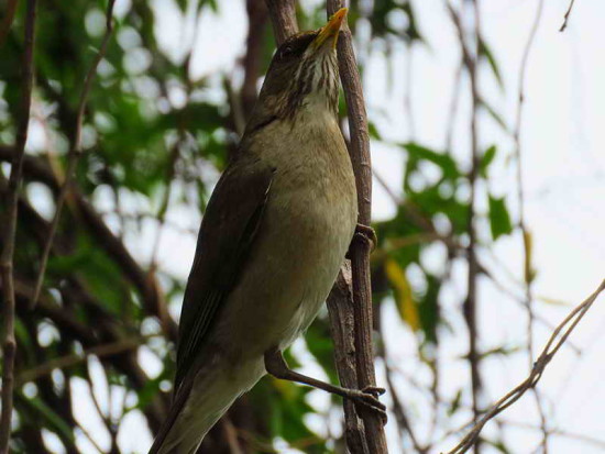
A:
<svg viewBox="0 0 605 454">
<path fill-rule="evenodd" d="M 233 401 L 252 388 L 264 367 L 213 364 L 186 377 L 175 396 L 168 417 L 160 429 L 150 454 L 194 454 Z"/>
</svg>

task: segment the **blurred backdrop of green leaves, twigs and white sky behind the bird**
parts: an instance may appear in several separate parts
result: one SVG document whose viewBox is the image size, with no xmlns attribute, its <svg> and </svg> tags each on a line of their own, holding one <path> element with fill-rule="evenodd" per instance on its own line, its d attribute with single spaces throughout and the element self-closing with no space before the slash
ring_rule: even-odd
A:
<svg viewBox="0 0 605 454">
<path fill-rule="evenodd" d="M 11 446 L 144 453 L 169 402 L 197 230 L 275 49 L 271 21 L 261 0 L 116 1 L 86 102 L 84 154 L 29 311 L 107 8 L 38 3 Z M 527 377 L 553 328 L 604 277 L 605 3 L 579 0 L 564 32 L 568 0 L 349 7 L 372 136 L 375 353 L 388 444 L 444 452 Z M 300 29 L 321 26 L 324 8 L 300 0 Z M 0 42 L 3 192 L 23 29 L 19 2 Z M 341 112 L 346 134 L 343 101 Z M 486 425 L 477 452 L 605 452 L 604 328 L 597 302 L 537 391 Z M 327 311 L 288 361 L 338 381 Z M 264 378 L 201 452 L 343 453 L 341 401 Z"/>
</svg>

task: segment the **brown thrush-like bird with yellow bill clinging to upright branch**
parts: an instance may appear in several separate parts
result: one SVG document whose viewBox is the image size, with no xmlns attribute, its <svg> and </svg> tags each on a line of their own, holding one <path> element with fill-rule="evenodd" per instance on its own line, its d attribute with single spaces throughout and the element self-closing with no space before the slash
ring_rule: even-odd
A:
<svg viewBox="0 0 605 454">
<path fill-rule="evenodd" d="M 312 322 L 360 229 L 339 128 L 337 41 L 346 9 L 275 52 L 244 133 L 204 214 L 179 320 L 174 397 L 150 453 L 195 453 L 267 373 L 384 412 L 283 357 Z"/>
</svg>

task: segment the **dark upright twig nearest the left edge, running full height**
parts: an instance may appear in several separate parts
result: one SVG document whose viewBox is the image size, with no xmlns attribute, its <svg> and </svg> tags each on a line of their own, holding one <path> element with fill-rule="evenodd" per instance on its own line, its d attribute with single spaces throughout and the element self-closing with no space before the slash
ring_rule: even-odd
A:
<svg viewBox="0 0 605 454">
<path fill-rule="evenodd" d="M 14 339 L 14 280 L 13 255 L 16 233 L 16 215 L 19 204 L 19 185 L 23 169 L 23 155 L 28 130 L 30 125 L 30 108 L 32 104 L 32 88 L 34 84 L 33 55 L 35 43 L 35 0 L 28 0 L 25 11 L 25 40 L 23 52 L 23 92 L 21 96 L 20 119 L 16 126 L 16 143 L 7 190 L 7 214 L 4 234 L 2 235 L 2 254 L 0 255 L 0 275 L 2 277 L 3 297 L 3 367 L 2 367 L 2 413 L 0 417 L 0 453 L 9 452 L 11 417 L 14 387 L 14 356 L 16 342 Z"/>
</svg>

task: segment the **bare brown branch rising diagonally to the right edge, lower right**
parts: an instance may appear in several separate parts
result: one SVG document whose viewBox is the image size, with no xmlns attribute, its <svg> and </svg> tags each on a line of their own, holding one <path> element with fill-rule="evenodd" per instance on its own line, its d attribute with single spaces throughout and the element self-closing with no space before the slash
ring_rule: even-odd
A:
<svg viewBox="0 0 605 454">
<path fill-rule="evenodd" d="M 588 309 L 593 306 L 594 301 L 598 295 L 605 290 L 605 279 L 601 283 L 598 288 L 586 300 L 584 300 L 580 306 L 572 310 L 568 317 L 557 326 L 554 332 L 549 337 L 547 345 L 538 356 L 538 359 L 534 363 L 534 367 L 529 373 L 528 377 L 521 381 L 517 387 L 512 391 L 506 394 L 497 402 L 495 402 L 490 410 L 473 425 L 471 431 L 462 439 L 462 441 L 448 454 L 462 454 L 468 452 L 479 440 L 479 435 L 483 430 L 483 427 L 502 411 L 510 407 L 517 400 L 521 398 L 528 389 L 536 387 L 547 365 L 554 357 L 559 348 L 565 343 L 570 334 L 573 332 L 578 323 L 586 314 Z"/>
</svg>

